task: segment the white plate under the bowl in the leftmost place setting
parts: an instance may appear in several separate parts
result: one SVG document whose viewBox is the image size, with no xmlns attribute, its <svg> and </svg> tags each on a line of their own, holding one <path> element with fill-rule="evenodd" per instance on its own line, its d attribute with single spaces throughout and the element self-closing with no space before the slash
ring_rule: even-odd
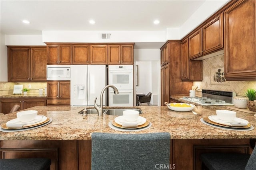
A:
<svg viewBox="0 0 256 170">
<path fill-rule="evenodd" d="M 36 119 L 34 119 L 33 121 L 29 121 L 29 122 L 21 122 L 21 121 L 18 121 L 18 118 L 16 118 L 16 119 L 12 119 L 12 120 L 6 122 L 6 127 L 17 127 L 20 125 L 23 125 L 23 127 L 27 127 L 27 126 L 31 126 L 34 124 L 42 123 L 42 122 L 46 121 L 46 119 L 47 119 L 47 117 L 44 115 L 37 115 Z"/>
</svg>

